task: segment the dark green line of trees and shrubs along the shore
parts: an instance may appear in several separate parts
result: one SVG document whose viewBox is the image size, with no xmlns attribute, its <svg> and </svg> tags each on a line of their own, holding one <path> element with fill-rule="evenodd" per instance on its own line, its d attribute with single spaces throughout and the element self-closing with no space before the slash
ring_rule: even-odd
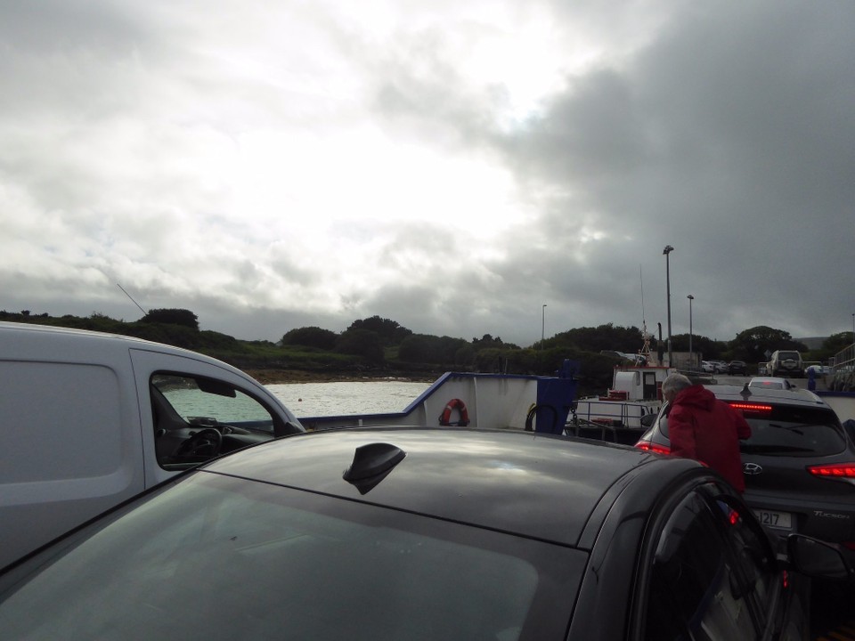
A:
<svg viewBox="0 0 855 641">
<path fill-rule="evenodd" d="M 145 338 L 207 353 L 241 369 L 303 369 L 328 374 L 361 372 L 434 376 L 447 370 L 550 375 L 565 359 L 578 361 L 584 388 L 605 389 L 611 383 L 615 359 L 601 351 L 638 353 L 641 330 L 612 323 L 568 329 L 520 347 L 485 334 L 471 340 L 416 334 L 396 321 L 371 316 L 354 321 L 341 332 L 319 327 L 289 329 L 277 343 L 244 341 L 219 332 L 199 330 L 196 314 L 185 309 L 156 309 L 140 321 L 125 322 L 100 313 L 82 318 L 52 317 L 47 313 L 0 312 L 0 321 L 34 322 L 77 329 L 92 329 Z M 753 366 L 765 353 L 797 349 L 806 361 L 826 361 L 850 345 L 851 334 L 827 337 L 818 350 L 794 340 L 781 329 L 758 326 L 739 332 L 730 341 L 694 335 L 692 347 L 704 359 L 740 360 Z M 688 352 L 688 334 L 672 336 L 673 352 Z M 663 345 L 654 339 L 654 355 Z"/>
</svg>

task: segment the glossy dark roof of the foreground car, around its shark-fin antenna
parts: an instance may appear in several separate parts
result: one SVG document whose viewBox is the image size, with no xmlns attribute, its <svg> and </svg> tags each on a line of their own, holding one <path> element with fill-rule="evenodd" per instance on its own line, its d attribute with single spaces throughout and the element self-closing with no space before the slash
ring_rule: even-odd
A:
<svg viewBox="0 0 855 641">
<path fill-rule="evenodd" d="M 386 443 L 385 446 L 379 445 Z M 347 482 L 354 453 L 403 459 L 387 475 Z M 359 471 L 359 464 L 354 464 Z M 516 430 L 354 428 L 299 434 L 220 458 L 203 471 L 240 476 L 469 523 L 562 545 L 592 542 L 615 499 L 633 509 L 696 461 L 630 447 Z M 647 505 L 645 505 L 647 503 Z"/>
</svg>

